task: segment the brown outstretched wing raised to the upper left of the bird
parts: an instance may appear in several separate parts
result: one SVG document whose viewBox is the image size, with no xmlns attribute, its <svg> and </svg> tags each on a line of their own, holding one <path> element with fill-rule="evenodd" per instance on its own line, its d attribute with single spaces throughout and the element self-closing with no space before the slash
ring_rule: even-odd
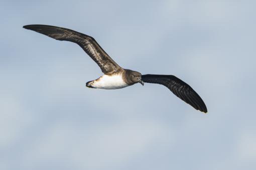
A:
<svg viewBox="0 0 256 170">
<path fill-rule="evenodd" d="M 104 74 L 122 69 L 91 36 L 71 29 L 51 25 L 35 24 L 25 25 L 23 27 L 45 34 L 57 40 L 67 40 L 77 43 L 99 65 Z"/>
</svg>

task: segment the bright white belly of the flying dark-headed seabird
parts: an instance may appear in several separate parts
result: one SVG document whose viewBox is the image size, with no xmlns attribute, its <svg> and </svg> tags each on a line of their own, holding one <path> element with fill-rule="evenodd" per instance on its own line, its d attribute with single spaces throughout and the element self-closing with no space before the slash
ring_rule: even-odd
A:
<svg viewBox="0 0 256 170">
<path fill-rule="evenodd" d="M 102 75 L 94 80 L 93 87 L 103 89 L 117 89 L 128 86 L 123 80 L 121 75 Z"/>
</svg>

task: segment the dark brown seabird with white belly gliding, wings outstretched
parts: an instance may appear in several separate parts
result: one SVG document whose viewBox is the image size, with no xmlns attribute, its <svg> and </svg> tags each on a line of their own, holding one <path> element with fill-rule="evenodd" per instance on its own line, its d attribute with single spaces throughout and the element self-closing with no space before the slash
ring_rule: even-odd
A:
<svg viewBox="0 0 256 170">
<path fill-rule="evenodd" d="M 23 27 L 57 40 L 77 43 L 104 73 L 99 78 L 86 82 L 86 86 L 89 88 L 118 89 L 135 83 L 144 85 L 145 82 L 162 84 L 195 109 L 207 112 L 202 98 L 186 82 L 174 75 L 142 74 L 138 71 L 122 68 L 101 48 L 92 36 L 52 25 L 30 24 Z"/>
</svg>

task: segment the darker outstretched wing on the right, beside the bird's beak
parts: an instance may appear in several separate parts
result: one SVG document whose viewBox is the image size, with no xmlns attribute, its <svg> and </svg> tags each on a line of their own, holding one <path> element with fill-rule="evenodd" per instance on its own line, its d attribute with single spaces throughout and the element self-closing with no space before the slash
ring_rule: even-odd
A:
<svg viewBox="0 0 256 170">
<path fill-rule="evenodd" d="M 142 80 L 149 83 L 158 83 L 169 88 L 176 96 L 181 98 L 186 103 L 193 106 L 195 109 L 207 112 L 206 105 L 202 98 L 196 93 L 191 86 L 186 82 L 177 78 L 174 75 L 157 75 L 146 74 L 142 75 Z"/>
</svg>

